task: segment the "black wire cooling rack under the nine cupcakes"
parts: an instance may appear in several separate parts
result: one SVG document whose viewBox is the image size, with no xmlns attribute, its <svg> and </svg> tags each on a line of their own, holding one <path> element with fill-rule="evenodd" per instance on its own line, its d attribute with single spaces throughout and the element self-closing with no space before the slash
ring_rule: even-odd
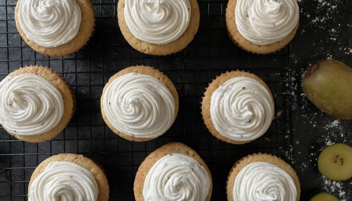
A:
<svg viewBox="0 0 352 201">
<path fill-rule="evenodd" d="M 30 176 L 44 159 L 58 153 L 79 153 L 100 162 L 110 184 L 111 200 L 134 200 L 133 180 L 139 164 L 161 145 L 180 141 L 194 148 L 213 176 L 212 200 L 226 200 L 228 171 L 239 158 L 255 152 L 277 154 L 290 162 L 293 149 L 290 46 L 258 56 L 237 48 L 225 25 L 227 1 L 198 1 L 201 22 L 194 41 L 170 56 L 149 56 L 131 48 L 117 24 L 117 0 L 95 0 L 96 30 L 79 52 L 49 57 L 33 51 L 16 29 L 16 0 L 0 0 L 0 80 L 25 65 L 48 66 L 75 89 L 77 112 L 56 138 L 43 143 L 17 140 L 0 127 L 0 199 L 27 200 Z M 149 65 L 168 75 L 180 95 L 180 110 L 172 128 L 149 142 L 130 142 L 115 135 L 100 112 L 104 84 L 117 71 L 131 65 Z M 214 138 L 203 124 L 200 102 L 205 87 L 227 70 L 250 71 L 271 88 L 276 113 L 268 132 L 246 145 L 231 145 Z"/>
</svg>

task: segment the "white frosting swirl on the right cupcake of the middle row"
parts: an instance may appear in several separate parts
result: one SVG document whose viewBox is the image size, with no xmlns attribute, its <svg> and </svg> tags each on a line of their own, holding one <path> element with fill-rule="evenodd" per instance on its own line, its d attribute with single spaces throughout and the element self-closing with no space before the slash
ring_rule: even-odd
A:
<svg viewBox="0 0 352 201">
<path fill-rule="evenodd" d="M 271 92 L 257 80 L 234 77 L 213 92 L 210 116 L 222 136 L 234 141 L 251 141 L 270 127 L 274 100 Z"/>
</svg>

